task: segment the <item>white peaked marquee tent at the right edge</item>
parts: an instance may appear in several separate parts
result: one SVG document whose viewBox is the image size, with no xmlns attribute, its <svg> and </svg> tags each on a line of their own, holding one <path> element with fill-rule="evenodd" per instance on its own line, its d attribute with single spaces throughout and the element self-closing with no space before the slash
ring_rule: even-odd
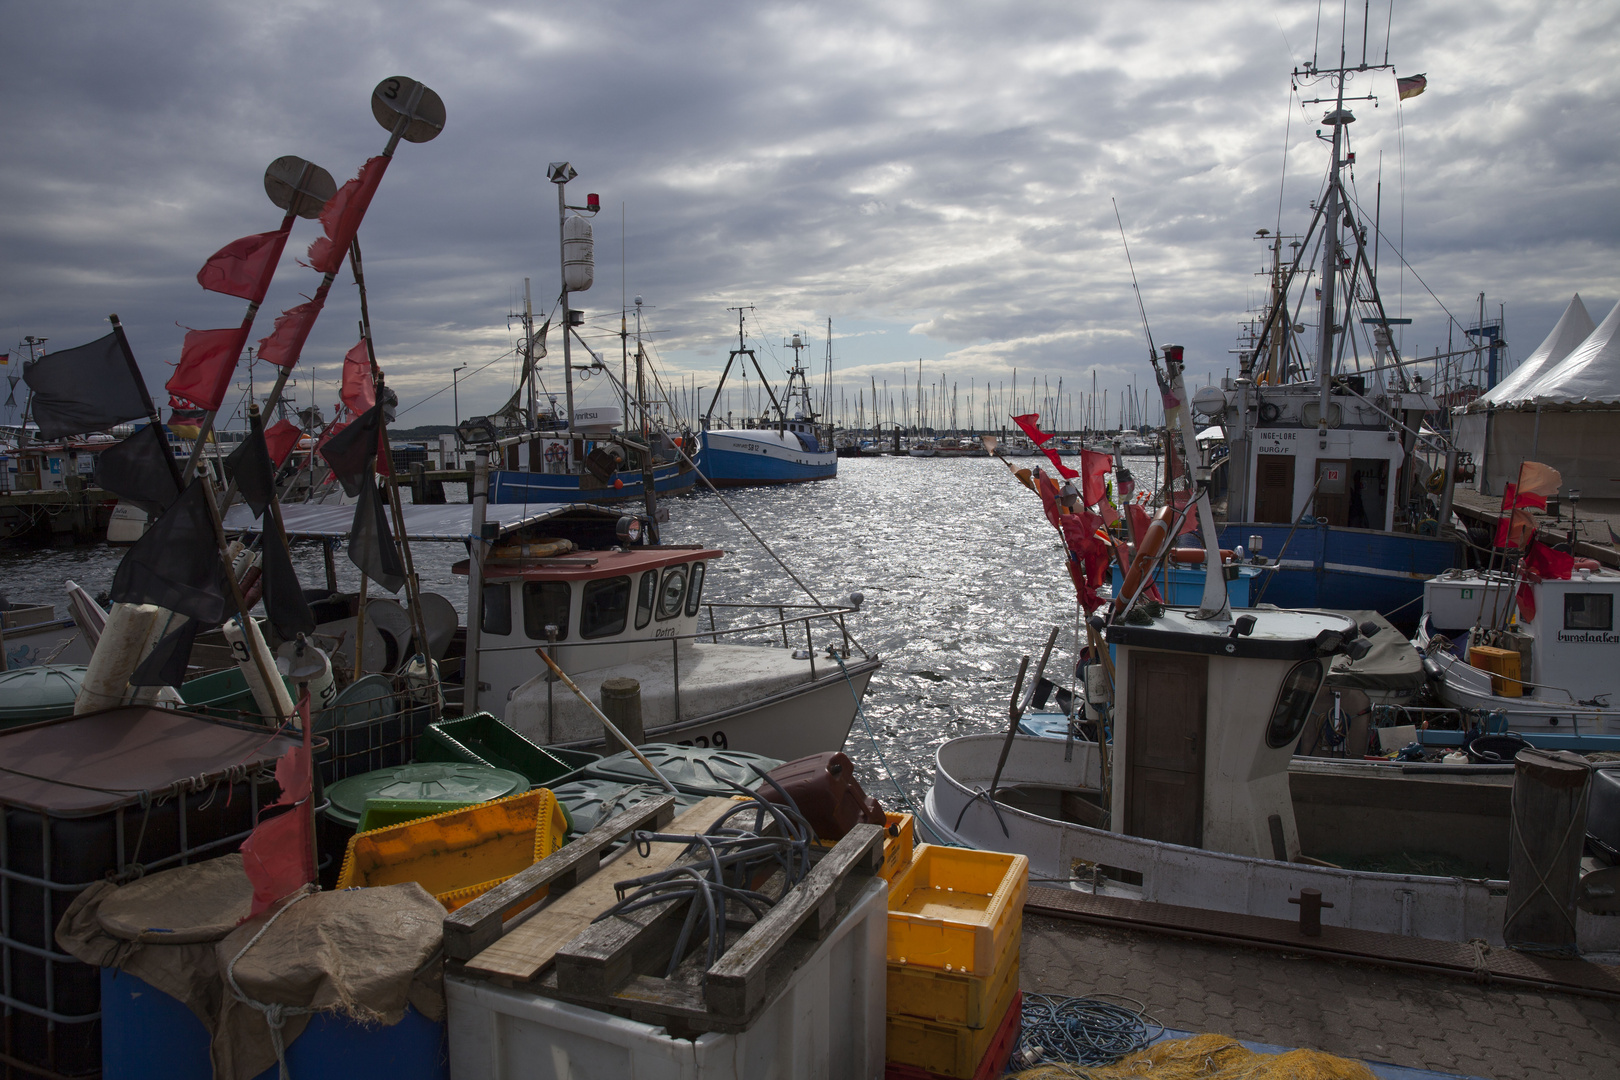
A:
<svg viewBox="0 0 1620 1080">
<path fill-rule="evenodd" d="M 1620 304 L 1592 327 L 1575 296 L 1547 340 L 1452 424 L 1482 494 L 1502 494 L 1520 463 L 1534 460 L 1583 499 L 1620 499 Z"/>
</svg>

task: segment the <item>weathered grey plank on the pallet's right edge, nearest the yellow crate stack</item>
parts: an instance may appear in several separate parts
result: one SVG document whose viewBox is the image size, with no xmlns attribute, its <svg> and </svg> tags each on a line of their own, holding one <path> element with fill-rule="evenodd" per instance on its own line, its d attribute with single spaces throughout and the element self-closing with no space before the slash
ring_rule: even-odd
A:
<svg viewBox="0 0 1620 1080">
<path fill-rule="evenodd" d="M 781 978 L 770 978 L 771 959 L 792 939 L 820 941 L 838 916 L 838 891 L 857 871 L 870 879 L 883 868 L 883 827 L 860 824 L 849 831 L 804 881 L 765 913 L 726 955 L 708 970 L 703 999 L 724 1017 L 745 1017 Z"/>
</svg>

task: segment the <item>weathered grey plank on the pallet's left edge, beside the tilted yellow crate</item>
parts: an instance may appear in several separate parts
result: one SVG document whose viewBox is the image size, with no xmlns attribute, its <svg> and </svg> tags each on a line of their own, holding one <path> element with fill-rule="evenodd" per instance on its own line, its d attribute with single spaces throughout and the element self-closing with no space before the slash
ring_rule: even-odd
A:
<svg viewBox="0 0 1620 1080">
<path fill-rule="evenodd" d="M 561 895 L 596 873 L 601 866 L 603 848 L 609 844 L 635 829 L 663 829 L 674 816 L 674 795 L 659 795 L 630 806 L 528 870 L 514 874 L 467 907 L 450 912 L 444 916 L 444 955 L 452 960 L 471 960 L 501 941 L 505 912 L 528 905 L 543 891 L 549 891 L 551 897 Z"/>
</svg>

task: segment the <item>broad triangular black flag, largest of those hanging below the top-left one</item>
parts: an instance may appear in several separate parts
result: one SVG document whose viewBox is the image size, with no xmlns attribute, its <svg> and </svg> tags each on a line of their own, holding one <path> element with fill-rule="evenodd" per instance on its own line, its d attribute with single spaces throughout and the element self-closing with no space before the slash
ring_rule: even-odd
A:
<svg viewBox="0 0 1620 1080">
<path fill-rule="evenodd" d="M 230 585 L 220 563 L 214 521 L 202 479 L 180 492 L 118 563 L 112 599 L 118 604 L 157 604 L 217 627 L 230 610 Z"/>
</svg>

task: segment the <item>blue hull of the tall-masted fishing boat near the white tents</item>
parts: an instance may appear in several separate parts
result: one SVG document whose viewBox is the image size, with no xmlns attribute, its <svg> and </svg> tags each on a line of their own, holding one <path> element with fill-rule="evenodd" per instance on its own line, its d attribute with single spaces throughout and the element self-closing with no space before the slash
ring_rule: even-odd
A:
<svg viewBox="0 0 1620 1080">
<path fill-rule="evenodd" d="M 1302 525 L 1290 538 L 1290 528 L 1239 521 L 1220 529 L 1221 547 L 1247 549 L 1251 536 L 1262 536 L 1260 554 L 1280 563 L 1256 583 L 1256 604 L 1375 610 L 1396 627 L 1416 625 L 1422 583 L 1460 565 L 1456 541 L 1437 536 Z"/>
</svg>

